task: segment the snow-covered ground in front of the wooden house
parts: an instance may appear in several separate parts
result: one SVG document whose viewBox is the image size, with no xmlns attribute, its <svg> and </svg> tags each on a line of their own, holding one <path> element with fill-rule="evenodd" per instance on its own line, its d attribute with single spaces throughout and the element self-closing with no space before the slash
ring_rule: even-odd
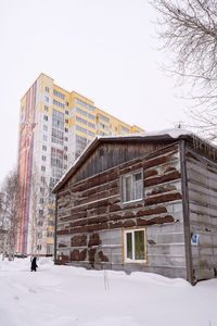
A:
<svg viewBox="0 0 217 326">
<path fill-rule="evenodd" d="M 217 326 L 217 279 L 0 261 L 1 326 Z"/>
</svg>

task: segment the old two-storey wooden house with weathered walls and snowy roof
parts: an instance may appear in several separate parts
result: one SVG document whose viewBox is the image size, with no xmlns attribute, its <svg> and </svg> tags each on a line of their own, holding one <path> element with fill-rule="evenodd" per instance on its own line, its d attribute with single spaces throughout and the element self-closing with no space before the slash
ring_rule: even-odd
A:
<svg viewBox="0 0 217 326">
<path fill-rule="evenodd" d="M 56 264 L 217 276 L 217 149 L 195 135 L 95 138 L 53 192 Z"/>
</svg>

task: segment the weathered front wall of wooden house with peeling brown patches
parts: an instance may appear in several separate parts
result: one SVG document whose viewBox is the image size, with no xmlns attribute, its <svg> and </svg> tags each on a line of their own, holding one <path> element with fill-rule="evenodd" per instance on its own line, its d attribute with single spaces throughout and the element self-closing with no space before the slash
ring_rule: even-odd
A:
<svg viewBox="0 0 217 326">
<path fill-rule="evenodd" d="M 179 147 L 142 146 L 133 160 L 99 149 L 58 192 L 56 263 L 186 278 Z M 144 199 L 123 204 L 120 176 L 138 170 Z M 146 265 L 123 262 L 123 229 L 137 227 L 146 227 Z"/>
</svg>

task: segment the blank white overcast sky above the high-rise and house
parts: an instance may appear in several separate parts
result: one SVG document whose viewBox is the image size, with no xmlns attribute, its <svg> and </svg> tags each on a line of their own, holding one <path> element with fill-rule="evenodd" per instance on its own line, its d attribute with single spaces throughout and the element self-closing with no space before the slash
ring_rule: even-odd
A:
<svg viewBox="0 0 217 326">
<path fill-rule="evenodd" d="M 155 14 L 148 0 L 0 0 L 0 181 L 16 163 L 20 100 L 41 72 L 145 130 L 183 120 L 158 67 Z"/>
</svg>

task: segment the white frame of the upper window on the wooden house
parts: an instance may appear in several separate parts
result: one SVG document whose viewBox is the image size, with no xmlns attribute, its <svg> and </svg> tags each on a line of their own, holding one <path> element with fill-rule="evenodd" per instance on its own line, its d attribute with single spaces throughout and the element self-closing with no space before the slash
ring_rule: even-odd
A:
<svg viewBox="0 0 217 326">
<path fill-rule="evenodd" d="M 142 186 L 142 190 L 141 190 L 141 197 L 140 198 L 136 198 L 136 175 L 141 174 L 141 186 Z M 130 178 L 130 189 L 131 189 L 131 193 L 130 193 L 130 200 L 126 200 L 126 179 Z M 122 202 L 128 203 L 128 202 L 135 202 L 135 201 L 141 201 L 144 199 L 144 189 L 143 189 L 143 171 L 139 170 L 139 171 L 133 171 L 131 173 L 127 173 L 125 175 L 122 176 L 120 179 L 122 183 Z"/>
</svg>

